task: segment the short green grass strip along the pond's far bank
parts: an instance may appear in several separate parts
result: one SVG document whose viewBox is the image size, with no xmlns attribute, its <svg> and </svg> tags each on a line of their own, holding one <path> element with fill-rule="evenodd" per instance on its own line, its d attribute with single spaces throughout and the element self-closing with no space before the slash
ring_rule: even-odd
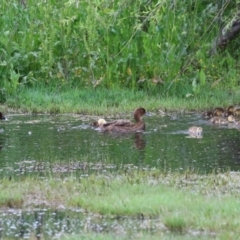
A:
<svg viewBox="0 0 240 240">
<path fill-rule="evenodd" d="M 148 111 L 201 111 L 216 106 L 227 107 L 240 103 L 240 90 L 228 93 L 223 90 L 201 92 L 197 97 L 167 97 L 143 91 L 107 89 L 45 89 L 22 88 L 18 94 L 8 96 L 8 111 L 34 113 L 116 114 L 143 106 Z M 3 107 L 2 107 L 3 108 Z"/>
</svg>

